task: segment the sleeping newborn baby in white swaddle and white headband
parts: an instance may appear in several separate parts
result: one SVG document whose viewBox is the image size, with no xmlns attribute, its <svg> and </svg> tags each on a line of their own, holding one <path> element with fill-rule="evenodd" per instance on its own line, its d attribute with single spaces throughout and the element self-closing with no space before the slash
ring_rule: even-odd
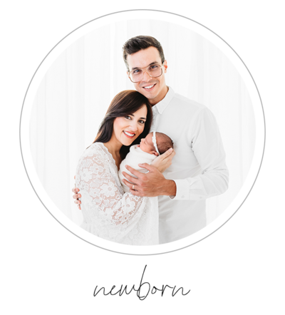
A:
<svg viewBox="0 0 285 315">
<path fill-rule="evenodd" d="M 130 147 L 130 152 L 125 157 L 125 160 L 120 163 L 119 178 L 124 192 L 130 192 L 130 189 L 123 182 L 125 177 L 122 172 L 124 171 L 130 176 L 135 177 L 135 175 L 125 168 L 125 165 L 129 165 L 140 172 L 148 172 L 147 169 L 139 167 L 138 164 L 151 164 L 158 155 L 165 153 L 165 151 L 170 148 L 173 148 L 173 143 L 168 135 L 165 135 L 165 133 L 156 133 L 155 131 L 153 133 L 149 133 L 144 139 L 140 140 L 139 145 L 132 145 Z"/>
</svg>

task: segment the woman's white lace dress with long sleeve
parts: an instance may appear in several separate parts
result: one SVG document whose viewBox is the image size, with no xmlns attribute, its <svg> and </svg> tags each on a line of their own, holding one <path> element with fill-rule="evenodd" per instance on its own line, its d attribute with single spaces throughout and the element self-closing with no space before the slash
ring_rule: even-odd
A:
<svg viewBox="0 0 285 315">
<path fill-rule="evenodd" d="M 76 187 L 82 196 L 83 229 L 122 244 L 158 244 L 157 205 L 152 198 L 124 193 L 115 160 L 103 143 L 93 143 L 81 155 Z"/>
</svg>

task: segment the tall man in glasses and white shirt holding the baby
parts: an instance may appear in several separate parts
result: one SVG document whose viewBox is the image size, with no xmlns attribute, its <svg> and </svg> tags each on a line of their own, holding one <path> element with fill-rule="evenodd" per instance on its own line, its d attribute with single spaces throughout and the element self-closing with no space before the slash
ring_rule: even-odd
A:
<svg viewBox="0 0 285 315">
<path fill-rule="evenodd" d="M 146 163 L 140 165 L 149 170 L 146 174 L 126 166 L 138 179 L 123 172 L 135 185 L 124 182 L 133 195 L 158 196 L 160 244 L 173 242 L 205 227 L 206 199 L 227 190 L 229 172 L 222 139 L 208 108 L 166 86 L 167 61 L 155 38 L 130 38 L 123 46 L 123 58 L 135 89 L 152 105 L 150 131 L 168 135 L 176 153 L 163 175 Z"/>
</svg>

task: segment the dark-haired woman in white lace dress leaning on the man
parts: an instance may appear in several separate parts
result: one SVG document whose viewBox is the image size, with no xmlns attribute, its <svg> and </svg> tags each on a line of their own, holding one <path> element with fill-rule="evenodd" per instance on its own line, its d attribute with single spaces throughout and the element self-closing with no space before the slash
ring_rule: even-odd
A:
<svg viewBox="0 0 285 315">
<path fill-rule="evenodd" d="M 88 232 L 122 244 L 158 244 L 158 207 L 153 204 L 157 198 L 124 193 L 118 177 L 130 145 L 145 138 L 151 123 L 152 109 L 144 95 L 131 90 L 115 95 L 76 170 L 82 227 Z"/>
</svg>

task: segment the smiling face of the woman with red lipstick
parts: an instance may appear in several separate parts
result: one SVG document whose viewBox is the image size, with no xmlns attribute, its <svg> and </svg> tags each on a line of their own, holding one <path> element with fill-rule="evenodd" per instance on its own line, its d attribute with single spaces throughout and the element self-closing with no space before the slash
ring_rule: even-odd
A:
<svg viewBox="0 0 285 315">
<path fill-rule="evenodd" d="M 133 114 L 115 118 L 112 138 L 115 138 L 123 145 L 132 144 L 144 130 L 146 120 L 146 105 L 143 105 L 142 108 Z"/>
</svg>

